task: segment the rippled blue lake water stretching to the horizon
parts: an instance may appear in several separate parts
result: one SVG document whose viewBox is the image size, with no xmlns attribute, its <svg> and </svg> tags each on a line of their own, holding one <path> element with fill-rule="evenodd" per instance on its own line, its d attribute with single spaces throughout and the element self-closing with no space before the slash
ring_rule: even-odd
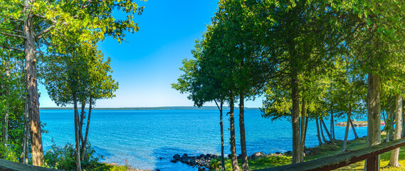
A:
<svg viewBox="0 0 405 171">
<path fill-rule="evenodd" d="M 230 154 L 229 120 L 224 112 L 225 153 Z M 241 152 L 236 110 L 236 151 Z M 40 110 L 46 123 L 44 150 L 52 139 L 56 145 L 74 144 L 73 110 Z M 325 120 L 329 129 L 330 120 Z M 245 113 L 246 148 L 254 152 L 285 152 L 292 150 L 290 121 L 265 119 L 260 110 Z M 335 126 L 335 137 L 344 138 L 344 127 Z M 367 127 L 356 128 L 359 137 L 367 135 Z M 305 145 L 317 145 L 315 121 L 307 128 Z M 169 160 L 175 154 L 221 154 L 219 110 L 92 110 L 89 140 L 104 162 L 117 162 L 144 170 L 196 170 L 181 162 Z M 326 135 L 325 135 L 326 136 Z M 354 139 L 350 129 L 349 140 Z M 160 159 L 162 157 L 162 159 Z"/>
</svg>

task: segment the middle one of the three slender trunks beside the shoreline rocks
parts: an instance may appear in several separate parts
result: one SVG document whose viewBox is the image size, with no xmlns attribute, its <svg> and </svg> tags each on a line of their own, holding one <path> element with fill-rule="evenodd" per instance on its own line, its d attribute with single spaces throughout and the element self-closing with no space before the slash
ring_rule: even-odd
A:
<svg viewBox="0 0 405 171">
<path fill-rule="evenodd" d="M 238 156 L 236 155 L 236 142 L 235 142 L 235 118 L 233 108 L 233 93 L 231 94 L 231 101 L 229 102 L 229 123 L 231 123 L 231 156 L 232 156 L 232 170 L 239 171 Z"/>
</svg>

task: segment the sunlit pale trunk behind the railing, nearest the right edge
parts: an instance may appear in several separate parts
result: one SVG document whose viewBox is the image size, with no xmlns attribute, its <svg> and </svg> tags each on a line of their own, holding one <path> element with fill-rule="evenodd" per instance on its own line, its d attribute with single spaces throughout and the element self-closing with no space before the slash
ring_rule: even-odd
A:
<svg viewBox="0 0 405 171">
<path fill-rule="evenodd" d="M 395 135 L 394 140 L 401 139 L 402 132 L 402 97 L 401 95 L 396 95 L 395 99 L 395 110 L 396 110 L 396 126 L 395 126 Z M 391 158 L 389 159 L 388 166 L 390 167 L 399 167 L 399 148 L 396 148 L 391 151 Z"/>
</svg>

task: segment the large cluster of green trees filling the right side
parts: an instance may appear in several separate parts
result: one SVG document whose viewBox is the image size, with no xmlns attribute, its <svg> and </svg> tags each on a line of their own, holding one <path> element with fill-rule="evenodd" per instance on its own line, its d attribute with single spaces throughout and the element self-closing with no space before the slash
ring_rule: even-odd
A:
<svg viewBox="0 0 405 171">
<path fill-rule="evenodd" d="M 211 101 L 218 106 L 222 170 L 223 105 L 230 107 L 234 171 L 240 168 L 233 108 L 235 103 L 241 108 L 245 171 L 243 103 L 258 95 L 265 97 L 264 118 L 291 121 L 293 163 L 304 161 L 308 120 L 316 120 L 322 145 L 335 140 L 333 117 L 347 117 L 342 152 L 347 150 L 351 118 L 362 111 L 367 111 L 367 146 L 381 142 L 381 115 L 386 140 L 399 139 L 405 126 L 404 8 L 405 1 L 389 0 L 220 0 L 212 23 L 191 51 L 193 58 L 182 61 L 184 74 L 172 88 L 189 93 L 196 106 Z M 324 118 L 330 118 L 330 131 Z M 399 148 L 391 153 L 390 167 L 399 167 L 398 157 Z"/>
</svg>

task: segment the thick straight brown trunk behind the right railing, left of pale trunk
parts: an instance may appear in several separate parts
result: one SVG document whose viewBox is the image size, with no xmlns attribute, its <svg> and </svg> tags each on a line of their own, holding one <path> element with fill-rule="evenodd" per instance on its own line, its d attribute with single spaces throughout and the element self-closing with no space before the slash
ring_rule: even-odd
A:
<svg viewBox="0 0 405 171">
<path fill-rule="evenodd" d="M 381 116 L 380 116 L 380 76 L 374 73 L 368 73 L 368 91 L 367 91 L 367 147 L 379 145 L 381 143 Z M 372 167 L 379 168 L 379 156 L 372 157 L 370 161 L 366 160 L 366 169 Z"/>
</svg>

